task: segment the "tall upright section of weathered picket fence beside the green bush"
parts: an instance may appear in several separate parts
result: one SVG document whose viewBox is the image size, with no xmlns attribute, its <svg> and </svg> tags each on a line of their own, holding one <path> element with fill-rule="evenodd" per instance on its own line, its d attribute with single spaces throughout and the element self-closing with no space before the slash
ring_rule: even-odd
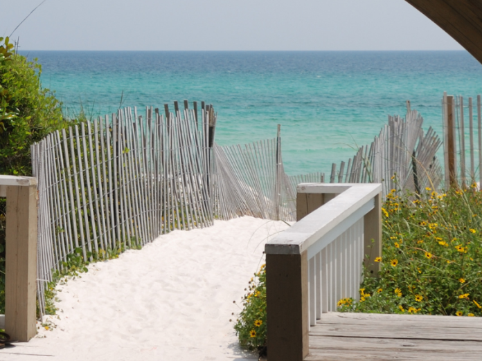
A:
<svg viewBox="0 0 482 361">
<path fill-rule="evenodd" d="M 213 223 L 216 114 L 202 104 L 198 120 L 196 108 L 176 104 L 166 116 L 148 108 L 145 118 L 126 108 L 33 145 L 42 312 L 43 283 L 68 266 L 69 254 L 92 261 Z"/>
</svg>

